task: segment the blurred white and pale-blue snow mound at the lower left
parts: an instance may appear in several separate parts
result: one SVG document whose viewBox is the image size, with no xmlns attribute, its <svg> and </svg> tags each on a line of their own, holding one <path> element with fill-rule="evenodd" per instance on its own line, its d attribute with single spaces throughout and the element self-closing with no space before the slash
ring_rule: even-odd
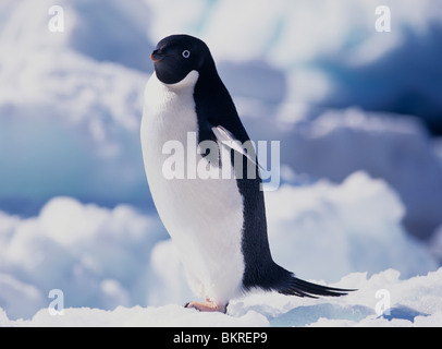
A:
<svg viewBox="0 0 442 349">
<path fill-rule="evenodd" d="M 0 214 L 0 306 L 29 317 L 51 289 L 72 306 L 145 304 L 149 256 L 165 232 L 131 206 L 49 201 L 37 217 Z"/>
</svg>

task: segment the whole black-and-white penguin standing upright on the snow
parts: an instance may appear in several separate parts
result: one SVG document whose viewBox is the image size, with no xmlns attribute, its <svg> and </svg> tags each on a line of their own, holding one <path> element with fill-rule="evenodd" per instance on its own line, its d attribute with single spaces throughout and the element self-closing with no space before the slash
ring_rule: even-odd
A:
<svg viewBox="0 0 442 349">
<path fill-rule="evenodd" d="M 254 289 L 310 298 L 352 291 L 302 280 L 273 261 L 261 178 L 246 176 L 250 166 L 259 174 L 256 154 L 232 146 L 230 158 L 220 156 L 225 141 L 245 144 L 250 139 L 208 46 L 189 35 L 171 35 L 158 43 L 150 58 L 155 71 L 144 94 L 143 159 L 157 212 L 177 248 L 188 285 L 205 299 L 185 306 L 225 313 L 231 299 Z M 170 142 L 187 152 L 165 147 Z M 204 142 L 217 145 L 218 161 L 213 154 L 208 159 L 207 149 L 194 147 Z M 195 166 L 231 166 L 238 154 L 243 166 L 233 168 L 230 178 L 164 176 L 164 164 L 180 154 L 187 158 L 174 166 L 186 174 L 195 174 Z"/>
</svg>

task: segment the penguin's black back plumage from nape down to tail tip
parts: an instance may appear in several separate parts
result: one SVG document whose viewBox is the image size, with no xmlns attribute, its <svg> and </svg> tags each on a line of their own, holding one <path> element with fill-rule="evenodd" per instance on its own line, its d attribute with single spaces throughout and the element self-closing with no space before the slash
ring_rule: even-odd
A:
<svg viewBox="0 0 442 349">
<path fill-rule="evenodd" d="M 205 49 L 207 46 L 205 46 Z M 229 91 L 221 81 L 214 61 L 207 48 L 204 63 L 199 68 L 199 77 L 194 91 L 195 109 L 198 118 L 198 142 L 217 137 L 212 127 L 221 125 L 229 130 L 241 143 L 250 141 Z M 256 159 L 256 155 L 254 154 Z M 284 294 L 298 297 L 343 296 L 344 289 L 329 288 L 296 278 L 291 272 L 273 262 L 270 253 L 267 233 L 267 218 L 261 179 L 257 160 L 253 164 L 243 156 L 243 176 L 236 179 L 236 184 L 243 196 L 243 231 L 242 252 L 244 255 L 243 288 L 275 290 Z M 234 155 L 231 154 L 232 166 Z M 255 178 L 247 178 L 247 169 L 255 169 Z"/>
</svg>

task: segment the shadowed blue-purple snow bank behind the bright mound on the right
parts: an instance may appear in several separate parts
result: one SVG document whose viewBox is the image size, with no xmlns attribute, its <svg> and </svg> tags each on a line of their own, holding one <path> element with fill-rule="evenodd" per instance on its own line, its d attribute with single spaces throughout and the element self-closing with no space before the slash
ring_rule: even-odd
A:
<svg viewBox="0 0 442 349">
<path fill-rule="evenodd" d="M 442 224 L 442 163 L 418 120 L 357 108 L 318 111 L 307 121 L 308 113 L 286 105 L 277 123 L 265 116 L 245 121 L 257 140 L 281 141 L 281 160 L 297 174 L 341 182 L 364 170 L 384 179 L 405 204 L 413 236 L 426 239 Z"/>
</svg>

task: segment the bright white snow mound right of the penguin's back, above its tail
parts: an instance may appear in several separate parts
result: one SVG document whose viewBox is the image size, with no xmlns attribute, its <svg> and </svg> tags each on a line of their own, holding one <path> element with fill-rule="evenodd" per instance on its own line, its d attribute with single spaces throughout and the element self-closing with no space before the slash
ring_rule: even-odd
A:
<svg viewBox="0 0 442 349">
<path fill-rule="evenodd" d="M 274 257 L 299 276 L 330 281 L 390 267 L 408 278 L 437 267 L 404 230 L 405 207 L 397 194 L 365 172 L 341 185 L 284 185 L 266 198 Z"/>
</svg>

